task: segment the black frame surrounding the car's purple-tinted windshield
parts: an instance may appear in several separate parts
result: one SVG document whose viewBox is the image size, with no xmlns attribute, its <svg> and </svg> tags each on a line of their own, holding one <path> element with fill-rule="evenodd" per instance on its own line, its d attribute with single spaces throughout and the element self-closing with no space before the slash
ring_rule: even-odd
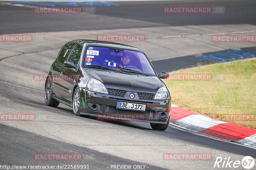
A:
<svg viewBox="0 0 256 170">
<path fill-rule="evenodd" d="M 150 60 L 148 59 L 148 57 L 147 57 L 147 55 L 144 53 L 144 52 L 142 52 L 142 51 L 139 51 L 139 50 L 132 50 L 132 49 L 128 49 L 128 48 L 125 48 L 125 47 L 115 47 L 115 46 L 106 46 L 106 45 L 104 45 L 104 46 L 100 46 L 100 45 L 86 45 L 85 46 L 85 50 L 84 50 L 84 54 L 83 54 L 83 61 L 82 61 L 82 66 L 83 66 L 83 68 L 92 68 L 92 67 L 90 67 L 91 65 L 85 65 L 85 63 L 87 62 L 85 59 L 86 59 L 86 55 L 87 55 L 87 50 L 88 50 L 88 48 L 89 47 L 100 47 L 100 48 L 108 48 L 108 49 L 110 49 L 110 50 L 112 50 L 112 49 L 116 49 L 116 50 L 118 50 L 118 52 L 120 52 L 120 51 L 126 51 L 126 52 L 131 52 L 131 53 L 136 53 L 136 54 L 139 54 L 140 53 L 140 55 L 142 55 L 143 57 L 144 57 L 144 59 L 142 59 L 142 60 L 144 60 L 145 62 L 147 62 L 146 64 L 147 64 L 147 67 L 150 67 L 149 69 L 151 69 L 152 70 L 152 72 L 153 72 L 153 74 L 149 74 L 149 73 L 144 73 L 142 70 L 140 70 L 141 71 L 141 73 L 140 72 L 136 72 L 136 70 L 134 70 L 134 72 L 132 72 L 131 70 L 131 68 L 130 67 L 128 67 L 127 68 L 127 71 L 125 71 L 125 69 L 126 68 L 123 68 L 123 67 L 121 67 L 121 68 L 118 68 L 118 67 L 116 67 L 116 68 L 112 68 L 111 70 L 109 70 L 109 67 L 106 67 L 107 69 L 106 69 L 106 71 L 114 71 L 114 72 L 119 72 L 119 73 L 122 73 L 122 74 L 141 74 L 141 75 L 148 75 L 148 76 L 157 76 L 157 73 L 156 73 L 156 70 L 155 70 L 155 68 L 153 67 L 153 65 L 152 65 L 152 63 L 150 62 Z M 90 50 L 90 49 L 89 49 Z M 140 60 L 141 61 L 141 59 L 139 59 L 139 56 L 135 56 L 136 57 L 136 60 Z M 93 59 L 93 58 L 92 58 Z M 99 64 L 97 64 L 97 65 L 99 65 Z M 94 65 L 92 65 L 92 66 L 94 66 Z M 141 65 L 141 63 L 140 63 L 140 66 L 142 67 L 142 65 Z M 101 66 L 101 67 L 104 67 L 104 66 Z M 92 68 L 92 69 L 100 69 L 100 70 L 105 70 L 104 68 Z M 138 69 L 137 69 L 138 70 Z"/>
</svg>

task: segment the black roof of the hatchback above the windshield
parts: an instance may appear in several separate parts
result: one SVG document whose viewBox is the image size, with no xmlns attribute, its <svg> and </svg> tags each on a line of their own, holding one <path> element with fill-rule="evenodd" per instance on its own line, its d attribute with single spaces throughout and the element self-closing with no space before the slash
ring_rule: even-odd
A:
<svg viewBox="0 0 256 170">
<path fill-rule="evenodd" d="M 134 46 L 129 46 L 126 44 L 120 44 L 120 43 L 115 43 L 115 42 L 108 42 L 108 41 L 97 41 L 97 40 L 91 40 L 91 39 L 78 39 L 70 42 L 77 42 L 81 43 L 83 45 L 88 45 L 88 46 L 102 46 L 102 47 L 114 47 L 114 48 L 123 48 L 127 50 L 134 50 L 134 51 L 139 51 L 142 52 L 139 48 L 136 48 Z"/>
</svg>

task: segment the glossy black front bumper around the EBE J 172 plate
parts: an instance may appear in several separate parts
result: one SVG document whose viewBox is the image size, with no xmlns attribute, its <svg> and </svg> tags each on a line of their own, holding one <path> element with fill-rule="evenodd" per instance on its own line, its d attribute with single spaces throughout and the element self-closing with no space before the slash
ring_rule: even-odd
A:
<svg viewBox="0 0 256 170">
<path fill-rule="evenodd" d="M 133 99 L 129 97 L 130 93 L 135 95 Z M 146 110 L 117 109 L 117 101 L 146 104 Z M 136 92 L 130 91 L 127 91 L 126 95 L 121 97 L 80 88 L 80 114 L 96 116 L 97 120 L 130 120 L 166 124 L 170 116 L 170 106 L 171 99 L 140 99 Z"/>
</svg>

